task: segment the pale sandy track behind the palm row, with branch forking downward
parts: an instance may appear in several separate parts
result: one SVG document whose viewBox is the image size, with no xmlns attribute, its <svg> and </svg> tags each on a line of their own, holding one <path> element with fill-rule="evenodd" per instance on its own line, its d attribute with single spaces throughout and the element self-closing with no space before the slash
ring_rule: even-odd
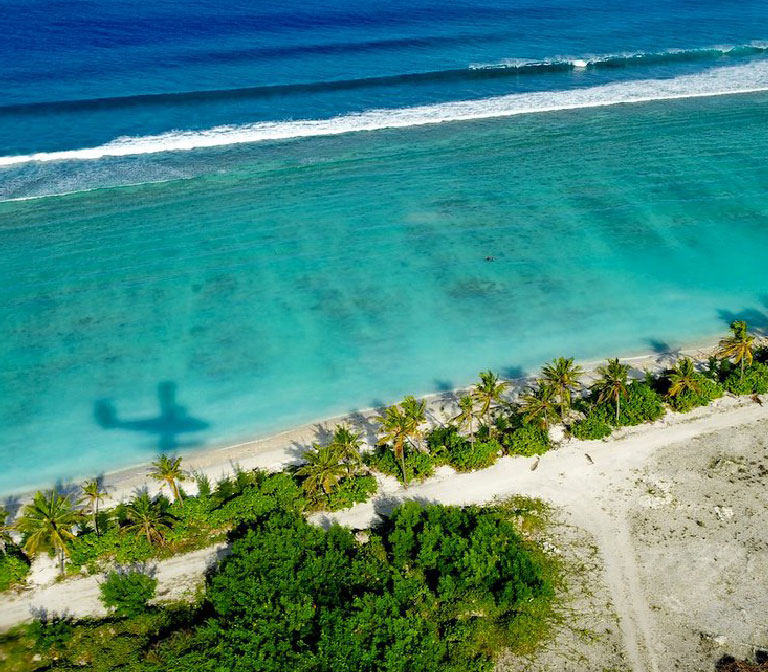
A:
<svg viewBox="0 0 768 672">
<path fill-rule="evenodd" d="M 653 425 L 621 430 L 608 441 L 566 442 L 541 456 L 535 469 L 536 458 L 504 457 L 488 469 L 466 474 L 441 468 L 434 477 L 408 489 L 384 477 L 373 500 L 337 513 L 315 514 L 313 520 L 320 525 L 338 522 L 364 529 L 406 499 L 467 505 L 521 494 L 548 500 L 592 534 L 599 546 L 603 578 L 620 619 L 627 666 L 632 672 L 660 672 L 653 647 L 654 617 L 627 522 L 638 474 L 662 447 L 766 419 L 768 405 L 724 398 L 685 416 L 670 414 Z M 293 455 L 286 451 L 285 457 L 289 461 Z M 218 546 L 156 563 L 160 598 L 193 592 L 206 568 L 221 554 L 222 547 Z M 98 584 L 98 577 L 83 577 L 3 597 L 0 629 L 29 620 L 40 609 L 76 616 L 102 615 Z"/>
</svg>

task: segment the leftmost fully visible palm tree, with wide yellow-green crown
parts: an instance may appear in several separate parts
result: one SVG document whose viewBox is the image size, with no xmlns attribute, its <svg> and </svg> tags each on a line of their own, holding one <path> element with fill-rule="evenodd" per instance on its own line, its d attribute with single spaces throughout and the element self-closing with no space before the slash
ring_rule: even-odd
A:
<svg viewBox="0 0 768 672">
<path fill-rule="evenodd" d="M 25 537 L 24 552 L 31 556 L 42 550 L 53 550 L 59 556 L 59 571 L 64 574 L 64 557 L 68 544 L 75 538 L 72 528 L 80 522 L 80 514 L 69 498 L 55 490 L 36 492 L 16 523 Z"/>
</svg>

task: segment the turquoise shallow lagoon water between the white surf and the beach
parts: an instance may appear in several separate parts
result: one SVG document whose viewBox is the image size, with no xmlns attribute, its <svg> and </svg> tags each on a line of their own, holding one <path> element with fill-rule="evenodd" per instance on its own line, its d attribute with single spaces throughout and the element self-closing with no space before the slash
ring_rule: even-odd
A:
<svg viewBox="0 0 768 672">
<path fill-rule="evenodd" d="M 765 326 L 767 103 L 195 150 L 155 159 L 193 179 L 0 203 L 0 491 Z"/>
</svg>

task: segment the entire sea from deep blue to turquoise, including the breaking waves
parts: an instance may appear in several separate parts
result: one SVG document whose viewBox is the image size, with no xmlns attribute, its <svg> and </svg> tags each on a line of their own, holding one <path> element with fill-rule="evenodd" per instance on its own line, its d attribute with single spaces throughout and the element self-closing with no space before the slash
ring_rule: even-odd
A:
<svg viewBox="0 0 768 672">
<path fill-rule="evenodd" d="M 764 0 L 0 31 L 0 492 L 768 325 Z"/>
</svg>

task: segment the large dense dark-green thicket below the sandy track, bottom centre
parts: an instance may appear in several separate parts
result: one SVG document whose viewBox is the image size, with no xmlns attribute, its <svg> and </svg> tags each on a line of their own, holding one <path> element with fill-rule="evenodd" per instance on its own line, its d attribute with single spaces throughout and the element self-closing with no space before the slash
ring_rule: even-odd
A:
<svg viewBox="0 0 768 672">
<path fill-rule="evenodd" d="M 493 510 L 409 503 L 367 542 L 274 512 L 234 542 L 206 620 L 153 657 L 199 672 L 491 672 L 546 634 L 553 594 L 547 559 Z"/>
</svg>

